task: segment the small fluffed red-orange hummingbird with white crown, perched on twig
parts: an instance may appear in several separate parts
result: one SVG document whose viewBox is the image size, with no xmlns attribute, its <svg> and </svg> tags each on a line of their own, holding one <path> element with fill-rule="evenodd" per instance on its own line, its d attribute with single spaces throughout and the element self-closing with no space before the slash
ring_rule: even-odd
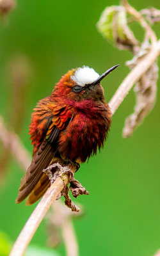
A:
<svg viewBox="0 0 160 256">
<path fill-rule="evenodd" d="M 43 172 L 49 165 L 72 163 L 78 169 L 104 145 L 111 111 L 100 81 L 116 67 L 101 76 L 86 66 L 69 70 L 51 96 L 38 102 L 29 126 L 33 158 L 20 182 L 17 204 L 29 196 L 26 205 L 31 205 L 44 195 L 51 184 Z"/>
</svg>

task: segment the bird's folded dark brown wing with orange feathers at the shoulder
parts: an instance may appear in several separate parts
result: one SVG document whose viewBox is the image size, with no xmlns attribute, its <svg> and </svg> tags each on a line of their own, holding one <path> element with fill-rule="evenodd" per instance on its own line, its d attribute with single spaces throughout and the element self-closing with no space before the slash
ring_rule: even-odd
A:
<svg viewBox="0 0 160 256">
<path fill-rule="evenodd" d="M 33 154 L 31 165 L 29 166 L 26 175 L 24 175 L 20 182 L 19 194 L 15 201 L 17 204 L 22 202 L 35 187 L 37 193 L 36 200 L 38 200 L 49 186 L 49 182 L 44 179 L 45 175 L 42 177 L 43 170 L 47 168 L 49 164 L 51 164 L 51 161 L 58 150 L 58 138 L 60 136 L 60 132 L 63 131 L 63 129 L 65 129 L 70 122 L 72 111 L 70 111 L 70 108 L 63 107 L 61 109 L 56 109 L 55 112 L 53 111 L 53 114 L 54 117 L 52 118 L 52 122 L 50 122 L 49 128 L 47 129 L 46 136 L 38 147 L 38 150 L 36 150 L 36 152 Z M 38 186 L 36 186 L 36 184 Z M 43 193 L 40 191 L 39 185 L 42 185 L 42 191 L 44 191 Z M 34 199 L 34 202 L 36 200 Z M 28 204 L 32 203 L 29 202 Z"/>
</svg>

